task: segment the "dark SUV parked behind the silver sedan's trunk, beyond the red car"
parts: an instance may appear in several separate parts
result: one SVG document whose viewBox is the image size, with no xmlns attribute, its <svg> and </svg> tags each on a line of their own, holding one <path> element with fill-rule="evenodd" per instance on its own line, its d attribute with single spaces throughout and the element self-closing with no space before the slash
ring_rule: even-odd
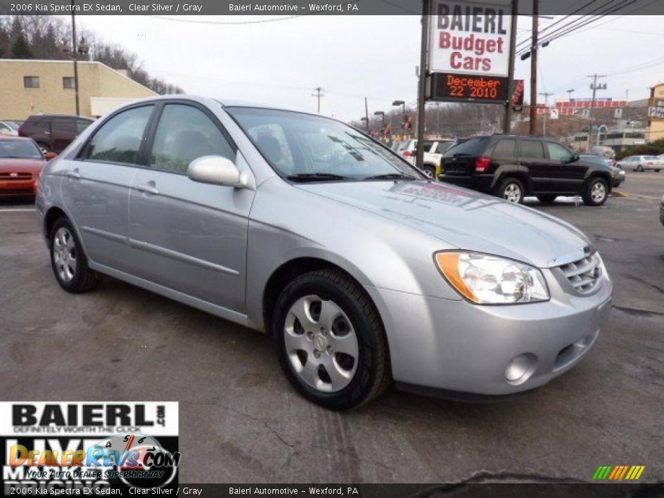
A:
<svg viewBox="0 0 664 498">
<path fill-rule="evenodd" d="M 19 127 L 19 136 L 30 137 L 47 152 L 62 152 L 93 120 L 68 114 L 35 114 Z"/>
</svg>

